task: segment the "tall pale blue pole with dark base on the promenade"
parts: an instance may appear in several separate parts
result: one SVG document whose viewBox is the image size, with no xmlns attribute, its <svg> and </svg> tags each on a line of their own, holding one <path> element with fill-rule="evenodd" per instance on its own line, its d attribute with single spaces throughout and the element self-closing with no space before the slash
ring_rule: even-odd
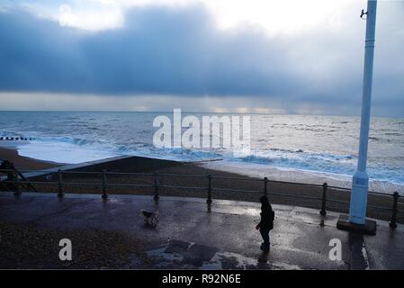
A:
<svg viewBox="0 0 404 288">
<path fill-rule="evenodd" d="M 362 11 L 361 18 L 366 15 L 366 39 L 364 44 L 364 88 L 362 95 L 361 132 L 359 139 L 358 164 L 352 181 L 349 219 L 340 217 L 338 229 L 358 230 L 374 234 L 376 223 L 366 220 L 367 193 L 369 175 L 366 171 L 369 126 L 371 121 L 372 78 L 374 31 L 376 24 L 376 0 L 368 0 L 367 12 Z"/>
</svg>

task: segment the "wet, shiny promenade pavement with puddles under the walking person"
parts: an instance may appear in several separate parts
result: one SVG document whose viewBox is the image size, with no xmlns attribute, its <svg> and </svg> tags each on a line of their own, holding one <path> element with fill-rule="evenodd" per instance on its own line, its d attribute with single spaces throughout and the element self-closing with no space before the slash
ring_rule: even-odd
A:
<svg viewBox="0 0 404 288">
<path fill-rule="evenodd" d="M 339 213 L 327 216 L 308 208 L 273 205 L 274 229 L 271 250 L 255 229 L 259 204 L 195 198 L 110 195 L 13 193 L 0 194 L 0 220 L 34 223 L 49 229 L 121 230 L 140 238 L 148 268 L 202 269 L 404 269 L 404 227 L 389 228 L 377 220 L 375 236 L 338 230 Z M 157 211 L 155 229 L 144 225 L 140 210 Z M 341 258 L 333 247 L 341 244 Z M 331 245 L 330 245 L 331 242 Z M 74 244 L 73 244 L 74 245 Z M 122 268 L 144 268 L 133 256 Z"/>
</svg>

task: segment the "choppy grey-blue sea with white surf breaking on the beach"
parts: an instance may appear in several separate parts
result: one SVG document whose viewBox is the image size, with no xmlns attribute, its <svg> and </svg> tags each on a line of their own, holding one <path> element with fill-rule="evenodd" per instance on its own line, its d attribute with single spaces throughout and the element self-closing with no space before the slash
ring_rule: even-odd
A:
<svg viewBox="0 0 404 288">
<path fill-rule="evenodd" d="M 159 128 L 153 121 L 161 115 L 173 120 L 173 112 L 0 112 L 0 137 L 31 138 L 14 141 L 20 155 L 59 163 L 157 157 L 199 161 L 240 175 L 343 187 L 350 186 L 355 173 L 359 117 L 183 112 L 201 121 L 202 116 L 249 116 L 250 153 L 236 156 L 223 147 L 156 147 L 153 136 Z M 404 119 L 373 117 L 368 174 L 371 190 L 404 194 Z"/>
</svg>

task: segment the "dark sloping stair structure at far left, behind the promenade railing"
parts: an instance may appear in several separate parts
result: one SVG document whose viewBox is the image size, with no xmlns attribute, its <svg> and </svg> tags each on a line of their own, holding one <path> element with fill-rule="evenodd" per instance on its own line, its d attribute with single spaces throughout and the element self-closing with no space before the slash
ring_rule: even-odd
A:
<svg viewBox="0 0 404 288">
<path fill-rule="evenodd" d="M 22 185 L 28 191 L 38 192 L 35 187 L 22 175 L 22 173 L 15 168 L 12 162 L 3 160 L 0 165 L 0 173 L 7 175 L 5 181 L 0 180 L 0 190 L 19 192 L 19 185 Z M 19 180 L 22 180 L 21 182 Z"/>
</svg>

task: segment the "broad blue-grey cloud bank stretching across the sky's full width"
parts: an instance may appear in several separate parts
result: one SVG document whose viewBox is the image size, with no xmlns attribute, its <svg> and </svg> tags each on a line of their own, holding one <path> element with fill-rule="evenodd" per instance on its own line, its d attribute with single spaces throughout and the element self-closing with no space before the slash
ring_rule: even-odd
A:
<svg viewBox="0 0 404 288">
<path fill-rule="evenodd" d="M 202 4 L 131 8 L 121 28 L 96 32 L 8 7 L 0 9 L 1 97 L 170 95 L 191 107 L 209 95 L 229 106 L 358 114 L 364 7 L 337 24 L 274 36 L 253 23 L 219 29 Z M 380 3 L 377 17 L 373 114 L 404 116 L 404 3 Z"/>
</svg>

